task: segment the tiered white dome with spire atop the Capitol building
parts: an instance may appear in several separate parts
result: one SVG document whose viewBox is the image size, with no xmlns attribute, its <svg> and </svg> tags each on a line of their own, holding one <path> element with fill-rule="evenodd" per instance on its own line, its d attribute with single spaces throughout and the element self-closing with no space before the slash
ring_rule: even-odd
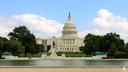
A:
<svg viewBox="0 0 128 72">
<path fill-rule="evenodd" d="M 63 27 L 63 31 L 62 31 L 62 37 L 77 37 L 77 31 L 76 31 L 76 27 L 75 25 L 73 24 L 72 22 L 72 19 L 71 19 L 71 16 L 70 16 L 70 13 L 69 13 L 69 16 L 68 16 L 68 20 L 67 22 L 65 22 L 65 25 Z"/>
</svg>

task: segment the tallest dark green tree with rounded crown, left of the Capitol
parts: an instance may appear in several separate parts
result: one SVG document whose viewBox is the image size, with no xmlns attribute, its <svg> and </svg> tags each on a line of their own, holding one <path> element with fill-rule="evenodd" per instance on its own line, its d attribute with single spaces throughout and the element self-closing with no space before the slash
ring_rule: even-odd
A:
<svg viewBox="0 0 128 72">
<path fill-rule="evenodd" d="M 35 36 L 27 29 L 26 26 L 19 26 L 13 29 L 13 32 L 8 34 L 10 39 L 15 39 L 21 42 L 25 47 L 25 57 L 27 53 L 36 53 L 36 40 Z"/>
</svg>

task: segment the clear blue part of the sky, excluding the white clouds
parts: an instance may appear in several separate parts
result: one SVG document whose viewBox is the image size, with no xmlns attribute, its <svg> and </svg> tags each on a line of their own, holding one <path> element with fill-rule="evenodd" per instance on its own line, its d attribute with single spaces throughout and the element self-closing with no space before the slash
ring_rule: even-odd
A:
<svg viewBox="0 0 128 72">
<path fill-rule="evenodd" d="M 4 18 L 4 21 L 10 21 L 9 19 L 13 16 L 21 17 L 22 15 L 31 14 L 64 24 L 70 11 L 79 32 L 89 31 L 93 33 L 92 29 L 99 28 L 93 20 L 98 18 L 98 12 L 101 9 L 106 10 L 107 13 L 112 13 L 114 17 L 120 16 L 127 21 L 127 7 L 128 0 L 1 0 L 0 18 Z M 6 22 L 4 23 L 6 24 Z M 5 26 L 2 25 L 1 27 Z M 107 32 L 109 31 L 116 30 L 110 29 Z"/>
</svg>

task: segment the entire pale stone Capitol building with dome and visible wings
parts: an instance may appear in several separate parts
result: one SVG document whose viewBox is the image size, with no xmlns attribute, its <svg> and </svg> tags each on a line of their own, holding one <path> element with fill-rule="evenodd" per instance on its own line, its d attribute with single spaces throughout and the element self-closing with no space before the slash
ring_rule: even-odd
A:
<svg viewBox="0 0 128 72">
<path fill-rule="evenodd" d="M 60 38 L 53 37 L 47 40 L 37 39 L 38 44 L 45 43 L 45 45 L 51 45 L 51 48 L 53 48 L 53 41 L 55 42 L 57 52 L 79 52 L 79 47 L 83 46 L 83 38 L 78 37 L 70 13 L 68 20 L 63 27 L 62 36 Z"/>
</svg>

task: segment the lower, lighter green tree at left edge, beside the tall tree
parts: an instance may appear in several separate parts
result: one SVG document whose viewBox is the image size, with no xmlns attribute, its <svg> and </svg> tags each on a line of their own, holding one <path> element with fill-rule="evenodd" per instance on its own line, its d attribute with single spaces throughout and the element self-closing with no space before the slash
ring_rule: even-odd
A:
<svg viewBox="0 0 128 72">
<path fill-rule="evenodd" d="M 17 40 L 8 40 L 0 37 L 0 56 L 2 56 L 5 51 L 11 52 L 12 55 L 19 56 L 24 51 L 24 47 L 21 45 L 21 42 Z"/>
</svg>

